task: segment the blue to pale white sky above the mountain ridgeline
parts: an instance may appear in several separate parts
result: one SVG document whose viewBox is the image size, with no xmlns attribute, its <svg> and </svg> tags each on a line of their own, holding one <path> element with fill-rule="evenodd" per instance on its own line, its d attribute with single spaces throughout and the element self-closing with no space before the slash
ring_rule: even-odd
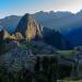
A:
<svg viewBox="0 0 82 82">
<path fill-rule="evenodd" d="M 0 0 L 0 17 L 38 11 L 71 11 L 82 9 L 82 0 Z"/>
</svg>

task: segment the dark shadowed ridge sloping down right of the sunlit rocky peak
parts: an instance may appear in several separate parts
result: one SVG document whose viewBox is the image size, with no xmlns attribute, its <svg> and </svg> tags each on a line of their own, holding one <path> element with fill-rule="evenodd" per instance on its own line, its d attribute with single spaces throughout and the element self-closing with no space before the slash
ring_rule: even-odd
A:
<svg viewBox="0 0 82 82">
<path fill-rule="evenodd" d="M 71 49 L 72 48 L 70 42 L 68 42 L 66 37 L 63 37 L 59 32 L 55 30 L 44 27 L 43 37 L 47 44 L 52 45 L 58 49 Z"/>
</svg>

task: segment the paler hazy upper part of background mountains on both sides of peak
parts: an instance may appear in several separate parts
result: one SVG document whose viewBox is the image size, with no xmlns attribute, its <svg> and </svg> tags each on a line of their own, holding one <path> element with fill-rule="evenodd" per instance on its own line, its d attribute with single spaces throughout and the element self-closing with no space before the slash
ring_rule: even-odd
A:
<svg viewBox="0 0 82 82">
<path fill-rule="evenodd" d="M 43 26 L 55 28 L 60 32 L 66 32 L 70 31 L 71 28 L 82 26 L 82 11 L 78 12 L 77 14 L 73 14 L 71 12 L 40 11 L 35 14 L 32 14 L 32 16 Z M 21 17 L 22 16 L 10 15 L 4 19 L 1 19 L 0 24 L 11 31 L 15 28 Z"/>
</svg>

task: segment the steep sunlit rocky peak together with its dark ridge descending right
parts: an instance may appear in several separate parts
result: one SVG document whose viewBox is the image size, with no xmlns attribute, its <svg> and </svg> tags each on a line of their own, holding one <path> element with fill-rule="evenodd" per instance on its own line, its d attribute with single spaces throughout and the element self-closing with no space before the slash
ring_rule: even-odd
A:
<svg viewBox="0 0 82 82">
<path fill-rule="evenodd" d="M 54 12 L 50 13 L 54 14 Z M 45 44 L 47 43 L 58 49 L 71 48 L 70 43 L 59 32 L 48 27 L 43 27 L 27 13 L 20 20 L 13 35 L 9 36 L 9 38 L 27 40 L 42 38 L 39 40 L 43 40 Z"/>
</svg>

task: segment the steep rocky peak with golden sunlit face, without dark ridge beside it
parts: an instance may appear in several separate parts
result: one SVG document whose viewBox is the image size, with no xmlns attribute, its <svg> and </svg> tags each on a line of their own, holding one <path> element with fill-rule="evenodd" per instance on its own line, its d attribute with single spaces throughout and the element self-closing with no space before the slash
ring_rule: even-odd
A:
<svg viewBox="0 0 82 82">
<path fill-rule="evenodd" d="M 22 37 L 25 39 L 35 39 L 42 37 L 42 26 L 30 15 L 25 14 L 15 30 L 15 37 Z"/>
</svg>

